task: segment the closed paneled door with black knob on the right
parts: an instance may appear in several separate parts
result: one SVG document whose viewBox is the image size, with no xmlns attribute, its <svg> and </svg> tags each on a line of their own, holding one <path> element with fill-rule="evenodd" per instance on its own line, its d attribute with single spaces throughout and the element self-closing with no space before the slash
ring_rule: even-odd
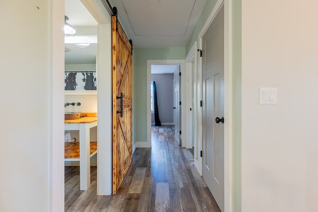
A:
<svg viewBox="0 0 318 212">
<path fill-rule="evenodd" d="M 202 37 L 202 86 L 202 174 L 224 211 L 224 6 Z"/>
</svg>

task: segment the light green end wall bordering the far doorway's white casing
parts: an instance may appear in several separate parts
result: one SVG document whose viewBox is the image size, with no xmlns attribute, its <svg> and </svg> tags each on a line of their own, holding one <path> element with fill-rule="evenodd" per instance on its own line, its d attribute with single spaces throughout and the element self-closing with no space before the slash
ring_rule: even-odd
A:
<svg viewBox="0 0 318 212">
<path fill-rule="evenodd" d="M 185 47 L 134 48 L 133 142 L 147 141 L 147 60 L 184 60 Z M 150 88 L 149 88 L 150 89 Z"/>
</svg>

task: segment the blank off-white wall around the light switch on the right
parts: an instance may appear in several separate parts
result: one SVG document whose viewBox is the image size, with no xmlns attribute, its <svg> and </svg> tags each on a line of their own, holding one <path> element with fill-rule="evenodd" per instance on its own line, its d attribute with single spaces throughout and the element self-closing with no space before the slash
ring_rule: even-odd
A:
<svg viewBox="0 0 318 212">
<path fill-rule="evenodd" d="M 242 0 L 243 212 L 318 209 L 317 8 Z M 259 87 L 277 87 L 277 104 L 258 104 Z"/>
</svg>

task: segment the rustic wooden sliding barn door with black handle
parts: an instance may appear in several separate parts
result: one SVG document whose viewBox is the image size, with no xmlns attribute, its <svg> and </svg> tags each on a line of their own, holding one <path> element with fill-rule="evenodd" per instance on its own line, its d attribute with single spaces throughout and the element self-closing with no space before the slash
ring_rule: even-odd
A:
<svg viewBox="0 0 318 212">
<path fill-rule="evenodd" d="M 132 162 L 132 46 L 116 16 L 112 24 L 113 194 Z"/>
</svg>

